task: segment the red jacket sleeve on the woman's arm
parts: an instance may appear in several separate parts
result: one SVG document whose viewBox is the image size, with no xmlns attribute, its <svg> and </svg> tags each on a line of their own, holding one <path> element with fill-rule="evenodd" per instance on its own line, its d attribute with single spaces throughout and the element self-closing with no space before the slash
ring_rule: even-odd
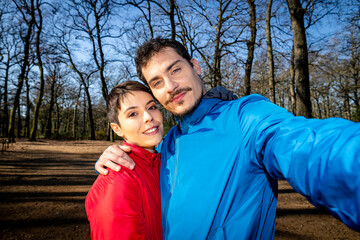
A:
<svg viewBox="0 0 360 240">
<path fill-rule="evenodd" d="M 131 173 L 99 175 L 86 197 L 91 239 L 145 239 L 141 190 Z"/>
</svg>

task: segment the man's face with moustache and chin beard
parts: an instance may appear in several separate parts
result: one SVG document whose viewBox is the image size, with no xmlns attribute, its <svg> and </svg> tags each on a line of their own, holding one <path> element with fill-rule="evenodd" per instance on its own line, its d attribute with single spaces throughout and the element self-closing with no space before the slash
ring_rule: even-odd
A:
<svg viewBox="0 0 360 240">
<path fill-rule="evenodd" d="M 150 58 L 142 73 L 156 99 L 176 116 L 191 112 L 205 93 L 199 63 L 193 67 L 172 48 L 164 48 Z"/>
</svg>

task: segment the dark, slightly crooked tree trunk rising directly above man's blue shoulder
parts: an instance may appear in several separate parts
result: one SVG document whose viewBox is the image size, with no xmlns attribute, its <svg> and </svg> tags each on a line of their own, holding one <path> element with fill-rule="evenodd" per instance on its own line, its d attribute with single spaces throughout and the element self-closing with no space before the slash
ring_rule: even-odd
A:
<svg viewBox="0 0 360 240">
<path fill-rule="evenodd" d="M 254 49 L 255 49 L 255 40 L 256 40 L 256 9 L 255 9 L 255 0 L 247 0 L 250 11 L 250 39 L 247 42 L 248 48 L 248 57 L 245 65 L 245 76 L 244 76 L 244 88 L 245 95 L 249 95 L 251 93 L 251 69 L 252 63 L 254 60 Z"/>
</svg>

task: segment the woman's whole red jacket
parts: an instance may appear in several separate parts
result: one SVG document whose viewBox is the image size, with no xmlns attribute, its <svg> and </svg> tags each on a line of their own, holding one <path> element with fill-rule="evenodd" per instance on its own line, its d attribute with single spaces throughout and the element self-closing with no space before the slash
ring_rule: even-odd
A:
<svg viewBox="0 0 360 240">
<path fill-rule="evenodd" d="M 131 146 L 134 170 L 99 175 L 85 200 L 91 239 L 162 239 L 160 154 Z"/>
</svg>

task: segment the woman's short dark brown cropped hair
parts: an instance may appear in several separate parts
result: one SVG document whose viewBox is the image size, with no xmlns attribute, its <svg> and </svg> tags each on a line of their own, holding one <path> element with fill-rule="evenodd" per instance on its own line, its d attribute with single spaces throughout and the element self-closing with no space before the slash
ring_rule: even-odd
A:
<svg viewBox="0 0 360 240">
<path fill-rule="evenodd" d="M 148 87 L 137 81 L 126 81 L 114 87 L 106 98 L 106 112 L 110 122 L 115 122 L 120 126 L 119 111 L 121 110 L 121 102 L 125 98 L 125 94 L 132 94 L 133 91 L 147 92 L 152 96 Z"/>
</svg>

